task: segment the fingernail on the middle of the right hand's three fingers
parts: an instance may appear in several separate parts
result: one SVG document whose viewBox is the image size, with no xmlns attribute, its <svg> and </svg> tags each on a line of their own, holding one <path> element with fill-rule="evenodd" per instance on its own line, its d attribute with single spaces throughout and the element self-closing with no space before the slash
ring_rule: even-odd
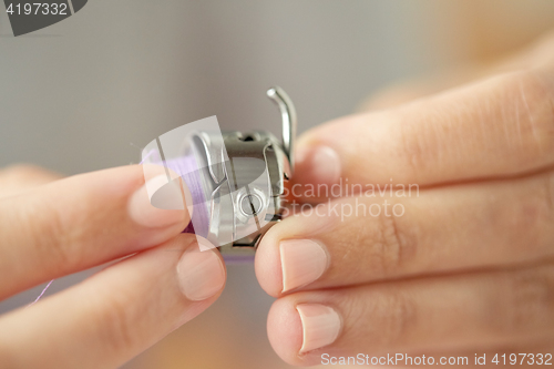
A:
<svg viewBox="0 0 554 369">
<path fill-rule="evenodd" d="M 327 268 L 327 253 L 314 240 L 283 240 L 279 250 L 284 293 L 315 281 Z"/>
</svg>

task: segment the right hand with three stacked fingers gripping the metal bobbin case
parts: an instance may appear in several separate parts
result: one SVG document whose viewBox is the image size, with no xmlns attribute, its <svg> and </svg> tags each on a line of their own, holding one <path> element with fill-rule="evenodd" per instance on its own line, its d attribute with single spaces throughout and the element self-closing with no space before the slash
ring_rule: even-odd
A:
<svg viewBox="0 0 554 369">
<path fill-rule="evenodd" d="M 300 139 L 295 195 L 320 204 L 256 255 L 285 361 L 552 355 L 552 41 L 512 71 Z"/>
</svg>

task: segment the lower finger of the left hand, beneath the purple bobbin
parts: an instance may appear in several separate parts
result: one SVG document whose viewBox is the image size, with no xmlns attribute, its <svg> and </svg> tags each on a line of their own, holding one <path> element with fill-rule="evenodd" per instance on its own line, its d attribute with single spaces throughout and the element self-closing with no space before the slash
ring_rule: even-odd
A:
<svg viewBox="0 0 554 369">
<path fill-rule="evenodd" d="M 179 235 L 2 316 L 0 361 L 7 368 L 116 368 L 205 310 L 224 284 L 219 253 L 199 252 L 195 236 Z"/>
</svg>

